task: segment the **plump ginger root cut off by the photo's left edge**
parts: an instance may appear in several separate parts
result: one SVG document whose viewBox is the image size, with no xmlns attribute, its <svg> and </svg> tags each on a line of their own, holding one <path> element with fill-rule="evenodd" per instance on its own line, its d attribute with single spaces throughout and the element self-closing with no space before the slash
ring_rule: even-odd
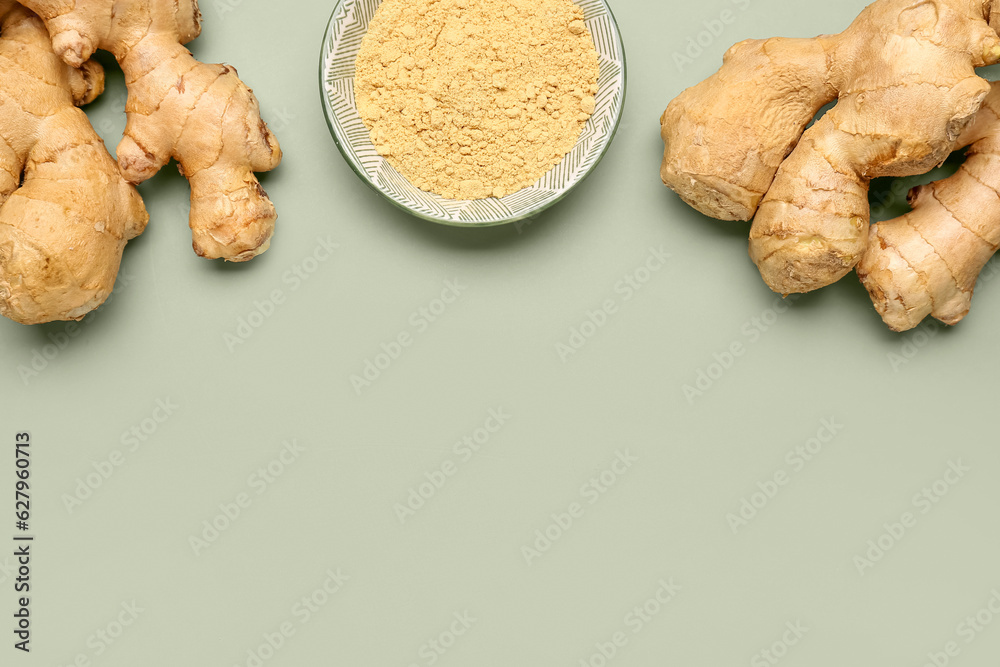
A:
<svg viewBox="0 0 1000 667">
<path fill-rule="evenodd" d="M 10 0 L 0 17 L 0 314 L 78 320 L 111 294 L 148 216 L 76 107 L 102 92 L 100 65 L 66 65 Z"/>
</svg>

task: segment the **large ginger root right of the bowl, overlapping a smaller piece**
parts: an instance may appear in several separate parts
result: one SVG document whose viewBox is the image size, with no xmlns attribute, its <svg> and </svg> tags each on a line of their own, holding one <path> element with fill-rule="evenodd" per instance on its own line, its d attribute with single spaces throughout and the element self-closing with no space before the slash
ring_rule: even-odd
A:
<svg viewBox="0 0 1000 667">
<path fill-rule="evenodd" d="M 943 162 L 989 92 L 974 68 L 1000 60 L 991 5 L 878 0 L 839 35 L 737 44 L 664 112 L 664 183 L 706 215 L 756 214 L 750 256 L 774 291 L 839 280 L 867 247 L 870 180 Z"/>
</svg>

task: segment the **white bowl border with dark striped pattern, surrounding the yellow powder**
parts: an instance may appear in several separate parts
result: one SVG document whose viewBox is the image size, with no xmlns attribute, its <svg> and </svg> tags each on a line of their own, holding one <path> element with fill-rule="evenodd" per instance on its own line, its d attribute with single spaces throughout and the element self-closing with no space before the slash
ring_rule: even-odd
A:
<svg viewBox="0 0 1000 667">
<path fill-rule="evenodd" d="M 320 57 L 323 108 L 334 141 L 351 168 L 376 191 L 409 213 L 461 227 L 489 227 L 529 218 L 566 196 L 597 166 L 625 105 L 625 49 L 605 0 L 577 0 L 600 56 L 594 115 L 576 146 L 534 185 L 501 199 L 445 199 L 411 185 L 375 150 L 354 103 L 354 61 L 381 0 L 338 0 Z"/>
</svg>

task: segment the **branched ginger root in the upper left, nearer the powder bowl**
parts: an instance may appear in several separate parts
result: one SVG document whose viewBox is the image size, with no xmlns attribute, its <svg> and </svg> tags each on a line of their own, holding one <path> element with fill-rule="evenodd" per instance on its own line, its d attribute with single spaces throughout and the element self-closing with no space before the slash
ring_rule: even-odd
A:
<svg viewBox="0 0 1000 667">
<path fill-rule="evenodd" d="M 281 161 L 257 99 L 228 65 L 197 61 L 196 0 L 20 0 L 45 21 L 56 53 L 79 66 L 111 52 L 128 85 L 118 161 L 141 183 L 175 158 L 191 183 L 195 252 L 249 260 L 267 250 L 277 214 L 254 172 Z"/>
</svg>

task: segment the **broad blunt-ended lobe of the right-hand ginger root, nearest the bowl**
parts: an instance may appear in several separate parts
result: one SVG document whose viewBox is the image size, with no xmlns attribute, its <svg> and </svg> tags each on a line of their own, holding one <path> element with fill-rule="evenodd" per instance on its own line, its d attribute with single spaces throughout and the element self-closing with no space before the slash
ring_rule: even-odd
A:
<svg viewBox="0 0 1000 667">
<path fill-rule="evenodd" d="M 746 40 L 660 118 L 660 178 L 720 220 L 750 220 L 816 112 L 834 100 L 818 39 Z"/>
</svg>

